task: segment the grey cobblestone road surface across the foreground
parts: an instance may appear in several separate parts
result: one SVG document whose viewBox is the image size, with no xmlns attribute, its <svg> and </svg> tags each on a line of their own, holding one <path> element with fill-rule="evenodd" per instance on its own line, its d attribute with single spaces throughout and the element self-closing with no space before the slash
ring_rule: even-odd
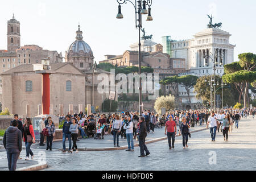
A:
<svg viewBox="0 0 256 182">
<path fill-rule="evenodd" d="M 209 130 L 204 130 L 191 134 L 189 148 L 185 150 L 182 137 L 176 137 L 172 150 L 169 150 L 167 140 L 151 143 L 147 145 L 151 154 L 145 158 L 138 158 L 139 147 L 135 147 L 134 152 L 121 150 L 62 154 L 60 151 L 46 151 L 49 167 L 45 170 L 256 170 L 255 124 L 256 119 L 251 116 L 242 119 L 239 129 L 233 128 L 233 133 L 229 134 L 229 142 L 224 142 L 222 133 L 217 133 L 216 142 L 211 142 Z M 33 151 L 36 154 L 40 150 Z M 0 159 L 6 159 L 3 153 L 0 152 Z"/>
</svg>

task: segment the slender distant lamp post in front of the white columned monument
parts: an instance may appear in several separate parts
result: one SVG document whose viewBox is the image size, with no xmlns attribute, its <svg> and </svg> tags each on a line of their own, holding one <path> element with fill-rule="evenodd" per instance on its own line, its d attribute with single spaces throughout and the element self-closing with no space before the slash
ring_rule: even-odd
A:
<svg viewBox="0 0 256 182">
<path fill-rule="evenodd" d="M 209 55 L 205 55 L 204 56 L 204 60 L 205 60 L 205 65 L 208 65 L 209 64 L 209 58 L 212 59 L 212 65 L 213 65 L 212 69 L 213 69 L 213 72 L 214 72 L 214 76 L 213 76 L 213 104 L 214 104 L 214 106 L 213 106 L 213 108 L 214 108 L 214 111 L 215 111 L 215 107 L 216 107 L 216 102 L 215 102 L 215 93 L 216 93 L 216 91 L 215 91 L 215 87 L 216 87 L 215 75 L 216 75 L 216 67 L 218 65 L 218 57 L 220 58 L 220 65 L 223 65 L 224 53 L 222 51 L 217 51 L 217 50 L 214 52 L 214 55 L 213 55 L 212 52 L 209 52 L 209 53 L 212 55 L 212 57 L 210 57 Z M 218 55 L 218 53 L 220 53 L 220 55 Z M 212 92 L 212 89 L 211 89 L 211 92 Z M 212 95 L 212 93 L 211 93 L 211 95 Z M 211 96 L 210 100 L 212 101 L 212 96 Z M 212 110 L 212 102 L 210 102 L 210 106 L 211 106 L 210 110 Z"/>
</svg>

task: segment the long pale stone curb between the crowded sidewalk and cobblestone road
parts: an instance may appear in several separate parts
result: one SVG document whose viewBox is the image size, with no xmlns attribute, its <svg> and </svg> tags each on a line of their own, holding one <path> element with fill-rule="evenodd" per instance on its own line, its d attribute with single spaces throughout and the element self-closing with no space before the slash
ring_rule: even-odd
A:
<svg viewBox="0 0 256 182">
<path fill-rule="evenodd" d="M 196 133 L 196 132 L 203 131 L 203 130 L 207 130 L 207 129 L 206 128 L 199 129 L 199 130 L 191 131 L 190 133 Z M 175 137 L 179 137 L 179 135 L 176 135 Z M 166 139 L 167 139 L 167 137 L 156 138 L 156 139 L 146 141 L 145 144 L 159 142 L 159 141 L 166 140 Z M 139 146 L 138 143 L 134 144 L 134 147 L 138 147 L 138 146 Z M 122 146 L 122 147 L 102 147 L 102 148 L 87 148 L 86 147 L 86 148 L 77 148 L 77 149 L 78 149 L 78 151 L 113 151 L 113 150 L 125 150 L 127 148 L 128 148 L 128 145 Z M 56 150 L 62 151 L 63 148 L 59 148 Z"/>
</svg>

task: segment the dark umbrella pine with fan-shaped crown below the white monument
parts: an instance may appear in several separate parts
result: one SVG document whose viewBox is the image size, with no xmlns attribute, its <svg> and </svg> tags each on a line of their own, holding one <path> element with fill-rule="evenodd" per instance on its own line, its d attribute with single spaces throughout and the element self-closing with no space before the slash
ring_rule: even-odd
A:
<svg viewBox="0 0 256 182">
<path fill-rule="evenodd" d="M 184 76 L 180 76 L 178 77 L 177 81 L 184 86 L 185 90 L 187 91 L 188 94 L 188 101 L 189 104 L 191 104 L 191 99 L 190 99 L 190 90 L 193 88 L 193 86 L 196 85 L 196 81 L 197 81 L 198 77 L 197 76 L 193 76 L 193 75 L 184 75 Z"/>
</svg>

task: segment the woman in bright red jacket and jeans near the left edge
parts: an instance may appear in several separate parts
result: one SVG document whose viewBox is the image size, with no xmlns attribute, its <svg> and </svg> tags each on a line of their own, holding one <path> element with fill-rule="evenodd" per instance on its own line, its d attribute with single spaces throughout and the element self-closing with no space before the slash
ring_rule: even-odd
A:
<svg viewBox="0 0 256 182">
<path fill-rule="evenodd" d="M 31 151 L 30 147 L 32 143 L 35 143 L 35 134 L 34 129 L 32 126 L 32 122 L 30 118 L 25 119 L 25 124 L 23 125 L 23 140 L 26 145 L 26 159 L 29 159 L 29 156 L 31 155 L 31 159 L 34 158 L 34 154 Z"/>
</svg>

